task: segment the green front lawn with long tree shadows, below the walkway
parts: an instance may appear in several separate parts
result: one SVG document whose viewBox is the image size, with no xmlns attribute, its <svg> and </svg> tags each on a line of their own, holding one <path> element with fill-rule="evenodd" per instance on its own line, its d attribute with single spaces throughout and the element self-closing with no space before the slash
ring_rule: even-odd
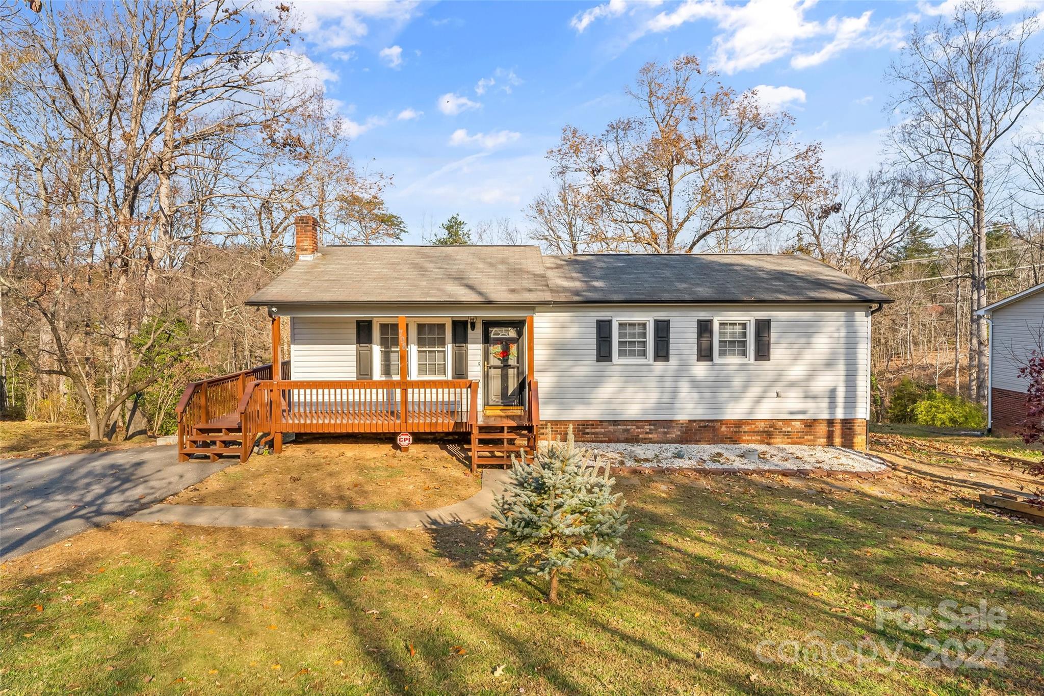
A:
<svg viewBox="0 0 1044 696">
<path fill-rule="evenodd" d="M 901 480 L 900 480 L 901 479 Z M 503 577 L 491 528 L 300 532 L 121 522 L 0 566 L 3 693 L 1041 693 L 1044 534 L 896 475 L 621 478 L 624 587 Z M 955 629 L 875 600 L 986 599 L 1007 664 L 923 667 Z M 883 641 L 894 668 L 766 664 L 763 640 Z M 769 651 L 770 653 L 770 651 Z M 524 692 L 522 691 L 524 690 Z M 929 691 L 930 690 L 930 691 Z"/>
</svg>

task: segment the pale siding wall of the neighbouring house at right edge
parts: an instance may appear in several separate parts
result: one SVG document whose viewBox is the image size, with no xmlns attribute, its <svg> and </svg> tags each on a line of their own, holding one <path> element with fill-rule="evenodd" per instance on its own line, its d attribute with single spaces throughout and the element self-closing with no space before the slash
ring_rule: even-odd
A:
<svg viewBox="0 0 1044 696">
<path fill-rule="evenodd" d="M 1019 368 L 1035 349 L 1044 351 L 1044 292 L 993 310 L 990 340 L 992 386 L 1024 393 L 1029 385 Z"/>
</svg>

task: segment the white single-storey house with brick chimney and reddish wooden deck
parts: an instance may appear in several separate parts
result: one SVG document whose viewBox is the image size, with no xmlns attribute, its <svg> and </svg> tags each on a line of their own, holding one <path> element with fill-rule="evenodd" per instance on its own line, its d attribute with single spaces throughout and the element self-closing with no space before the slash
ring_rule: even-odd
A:
<svg viewBox="0 0 1044 696">
<path fill-rule="evenodd" d="M 310 216 L 296 250 L 247 301 L 271 317 L 282 379 L 215 378 L 217 419 L 190 385 L 184 456 L 245 458 L 235 442 L 255 433 L 278 451 L 283 432 L 461 432 L 477 465 L 570 427 L 582 441 L 865 447 L 871 317 L 889 298 L 811 258 L 319 246 Z"/>
</svg>

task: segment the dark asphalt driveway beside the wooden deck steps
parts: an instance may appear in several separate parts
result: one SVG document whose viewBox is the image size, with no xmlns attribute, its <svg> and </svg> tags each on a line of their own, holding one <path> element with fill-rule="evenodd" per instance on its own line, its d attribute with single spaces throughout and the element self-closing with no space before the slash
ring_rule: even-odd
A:
<svg viewBox="0 0 1044 696">
<path fill-rule="evenodd" d="M 0 459 L 0 560 L 106 525 L 236 461 L 179 462 L 173 446 Z"/>
</svg>

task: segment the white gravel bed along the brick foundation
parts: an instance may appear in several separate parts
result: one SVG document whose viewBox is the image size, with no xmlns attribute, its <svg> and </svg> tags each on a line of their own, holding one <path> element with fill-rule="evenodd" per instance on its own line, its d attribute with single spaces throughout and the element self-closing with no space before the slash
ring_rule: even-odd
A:
<svg viewBox="0 0 1044 696">
<path fill-rule="evenodd" d="M 840 447 L 807 445 L 638 445 L 577 442 L 621 466 L 675 469 L 825 469 L 837 472 L 879 472 L 887 469 L 876 457 Z"/>
</svg>

